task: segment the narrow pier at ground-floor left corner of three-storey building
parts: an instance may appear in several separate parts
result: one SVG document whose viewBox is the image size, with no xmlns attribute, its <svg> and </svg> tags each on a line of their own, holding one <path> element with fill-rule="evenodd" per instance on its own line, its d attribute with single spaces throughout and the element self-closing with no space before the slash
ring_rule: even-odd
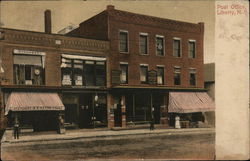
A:
<svg viewBox="0 0 250 161">
<path fill-rule="evenodd" d="M 107 108 L 108 108 L 108 128 L 115 126 L 114 120 L 114 98 L 112 94 L 107 94 Z"/>
</svg>

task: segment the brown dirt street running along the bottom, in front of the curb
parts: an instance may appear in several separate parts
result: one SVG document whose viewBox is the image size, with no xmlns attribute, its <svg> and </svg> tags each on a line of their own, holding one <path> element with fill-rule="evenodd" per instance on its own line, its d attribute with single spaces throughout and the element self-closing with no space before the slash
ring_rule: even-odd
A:
<svg viewBox="0 0 250 161">
<path fill-rule="evenodd" d="M 2 145 L 3 160 L 214 159 L 214 133 L 153 134 Z"/>
</svg>

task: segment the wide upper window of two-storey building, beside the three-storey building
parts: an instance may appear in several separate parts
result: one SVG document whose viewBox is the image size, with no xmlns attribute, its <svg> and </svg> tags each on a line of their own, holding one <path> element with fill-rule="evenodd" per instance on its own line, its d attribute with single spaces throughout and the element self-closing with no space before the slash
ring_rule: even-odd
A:
<svg viewBox="0 0 250 161">
<path fill-rule="evenodd" d="M 106 65 L 103 61 L 62 58 L 62 85 L 105 86 Z"/>
</svg>

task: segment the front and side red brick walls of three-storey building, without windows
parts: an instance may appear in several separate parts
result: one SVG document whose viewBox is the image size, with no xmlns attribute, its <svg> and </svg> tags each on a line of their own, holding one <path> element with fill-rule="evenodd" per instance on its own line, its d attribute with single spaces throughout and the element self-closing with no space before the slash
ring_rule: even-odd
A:
<svg viewBox="0 0 250 161">
<path fill-rule="evenodd" d="M 101 18 L 106 17 L 108 18 Z M 104 30 L 96 29 L 93 26 L 105 24 L 108 22 L 108 31 L 106 26 Z M 77 29 L 78 36 L 87 36 L 92 38 L 103 38 L 108 34 L 110 40 L 109 55 L 109 73 L 112 70 L 119 70 L 119 62 L 128 62 L 129 76 L 128 85 L 130 86 L 150 86 L 140 83 L 140 64 L 148 64 L 149 70 L 155 70 L 157 65 L 165 65 L 165 85 L 174 86 L 174 66 L 181 67 L 181 82 L 178 87 L 191 87 L 189 85 L 189 68 L 196 68 L 197 85 L 195 87 L 204 88 L 203 76 L 203 34 L 204 24 L 193 24 L 157 17 L 133 14 L 130 12 L 115 10 L 108 6 L 107 10 L 100 13 L 88 21 L 82 22 Z M 129 53 L 121 54 L 119 52 L 119 30 L 129 32 Z M 139 33 L 148 33 L 149 55 L 139 54 Z M 165 37 L 165 56 L 156 56 L 155 36 Z M 173 37 L 181 38 L 182 57 L 173 57 Z M 188 39 L 196 40 L 196 58 L 188 58 Z M 111 75 L 109 74 L 109 77 Z M 110 79 L 110 78 L 108 78 Z M 108 84 L 109 86 L 110 84 Z M 151 85 L 152 86 L 152 85 Z M 155 85 L 154 85 L 155 86 Z M 194 88 L 192 86 L 192 88 Z"/>
</svg>

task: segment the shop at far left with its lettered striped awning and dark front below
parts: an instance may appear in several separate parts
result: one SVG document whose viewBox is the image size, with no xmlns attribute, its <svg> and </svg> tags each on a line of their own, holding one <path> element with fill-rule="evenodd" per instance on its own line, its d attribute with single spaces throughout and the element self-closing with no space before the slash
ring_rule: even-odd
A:
<svg viewBox="0 0 250 161">
<path fill-rule="evenodd" d="M 33 131 L 57 131 L 58 118 L 65 107 L 55 92 L 11 92 L 7 98 L 5 115 L 9 126 L 17 117 L 21 128 Z"/>
</svg>

